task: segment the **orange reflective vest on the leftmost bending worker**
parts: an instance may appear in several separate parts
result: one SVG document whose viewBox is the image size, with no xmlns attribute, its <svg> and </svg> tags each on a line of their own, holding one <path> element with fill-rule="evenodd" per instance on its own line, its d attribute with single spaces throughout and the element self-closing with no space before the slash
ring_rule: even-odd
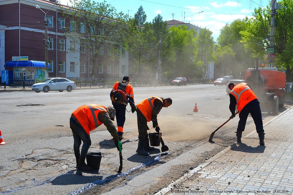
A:
<svg viewBox="0 0 293 195">
<path fill-rule="evenodd" d="M 77 108 L 72 114 L 76 117 L 86 133 L 89 135 L 90 131 L 103 124 L 103 122 L 98 120 L 98 113 L 100 111 L 107 112 L 106 107 L 96 104 L 86 104 Z"/>
</svg>

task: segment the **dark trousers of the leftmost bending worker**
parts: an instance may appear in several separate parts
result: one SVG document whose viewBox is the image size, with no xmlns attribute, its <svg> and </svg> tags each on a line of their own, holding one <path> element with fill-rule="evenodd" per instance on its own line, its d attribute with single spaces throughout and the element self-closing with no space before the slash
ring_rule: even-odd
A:
<svg viewBox="0 0 293 195">
<path fill-rule="evenodd" d="M 88 153 L 88 149 L 91 146 L 91 137 L 86 133 L 84 128 L 82 128 L 73 118 L 70 118 L 69 121 L 70 129 L 72 130 L 74 144 L 74 155 L 76 158 L 85 159 L 86 154 Z M 81 148 L 81 154 L 79 154 L 79 147 L 81 145 L 81 140 L 83 142 Z"/>
</svg>

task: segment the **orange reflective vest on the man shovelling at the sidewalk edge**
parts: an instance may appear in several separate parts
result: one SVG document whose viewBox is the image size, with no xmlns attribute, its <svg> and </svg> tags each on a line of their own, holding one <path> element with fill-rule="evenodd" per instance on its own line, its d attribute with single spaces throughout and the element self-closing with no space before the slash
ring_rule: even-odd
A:
<svg viewBox="0 0 293 195">
<path fill-rule="evenodd" d="M 247 83 L 239 83 L 234 86 L 231 90 L 230 94 L 232 94 L 236 99 L 236 106 L 239 111 L 241 110 L 254 99 L 257 99 L 252 89 L 248 86 Z"/>
</svg>

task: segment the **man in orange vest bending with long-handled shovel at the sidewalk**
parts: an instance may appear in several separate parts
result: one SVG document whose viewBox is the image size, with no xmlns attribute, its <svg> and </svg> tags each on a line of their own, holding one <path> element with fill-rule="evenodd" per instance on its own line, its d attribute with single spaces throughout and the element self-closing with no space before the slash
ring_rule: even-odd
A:
<svg viewBox="0 0 293 195">
<path fill-rule="evenodd" d="M 254 120 L 254 124 L 256 127 L 256 132 L 258 133 L 259 137 L 259 144 L 265 145 L 265 133 L 263 130 L 263 120 L 261 117 L 261 111 L 259 106 L 259 101 L 255 94 L 253 93 L 252 89 L 249 87 L 247 83 L 230 83 L 228 85 L 231 92 L 229 93 L 230 96 L 230 106 L 229 109 L 232 113 L 230 118 L 234 118 L 235 116 L 235 106 L 239 111 L 239 122 L 237 127 L 237 142 L 241 142 L 242 132 L 245 129 L 246 120 L 248 114 L 251 114 L 251 117 Z"/>
</svg>

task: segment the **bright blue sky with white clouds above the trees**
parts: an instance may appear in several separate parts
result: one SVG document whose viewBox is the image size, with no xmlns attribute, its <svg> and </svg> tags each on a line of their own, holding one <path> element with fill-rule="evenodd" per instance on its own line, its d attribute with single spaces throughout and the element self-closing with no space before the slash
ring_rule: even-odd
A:
<svg viewBox="0 0 293 195">
<path fill-rule="evenodd" d="M 66 5 L 67 2 L 70 5 L 69 0 L 60 0 L 61 4 Z M 207 27 L 213 32 L 214 41 L 226 23 L 229 24 L 235 19 L 246 16 L 250 18 L 254 8 L 265 7 L 269 2 L 269 0 L 107 0 L 107 3 L 117 11 L 129 13 L 132 17 L 139 6 L 142 6 L 148 22 L 158 14 L 161 14 L 163 20 L 172 20 L 174 13 L 174 20 L 192 23 L 202 28 Z"/>
</svg>

